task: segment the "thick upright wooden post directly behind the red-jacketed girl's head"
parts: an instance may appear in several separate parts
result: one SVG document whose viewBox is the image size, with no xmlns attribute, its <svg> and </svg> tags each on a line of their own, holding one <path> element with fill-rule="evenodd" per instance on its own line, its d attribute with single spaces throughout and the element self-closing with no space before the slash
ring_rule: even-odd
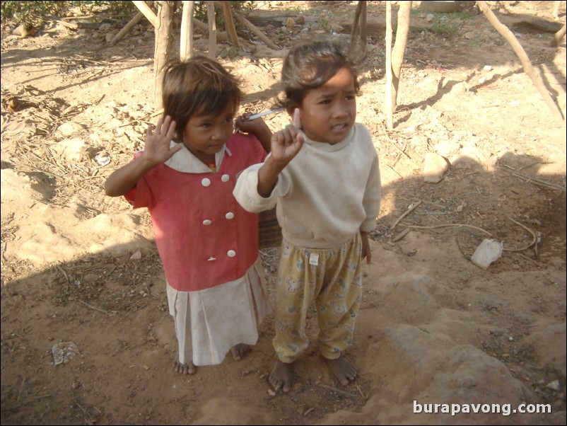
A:
<svg viewBox="0 0 567 426">
<path fill-rule="evenodd" d="M 172 24 L 175 1 L 156 1 L 158 5 L 158 18 L 156 22 L 156 48 L 153 51 L 153 105 L 156 110 L 163 107 L 161 99 L 161 82 L 163 80 L 163 66 L 168 62 L 173 42 Z"/>
</svg>

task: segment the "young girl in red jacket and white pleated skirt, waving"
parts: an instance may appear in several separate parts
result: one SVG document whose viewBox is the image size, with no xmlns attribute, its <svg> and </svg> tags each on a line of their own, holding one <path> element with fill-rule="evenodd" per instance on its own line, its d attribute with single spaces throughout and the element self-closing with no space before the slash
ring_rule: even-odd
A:
<svg viewBox="0 0 567 426">
<path fill-rule="evenodd" d="M 233 197 L 238 174 L 261 163 L 271 132 L 235 114 L 239 81 L 206 57 L 165 66 L 163 117 L 144 151 L 109 176 L 107 195 L 124 195 L 151 215 L 179 343 L 177 372 L 240 359 L 269 311 L 258 251 L 258 217 Z"/>
</svg>

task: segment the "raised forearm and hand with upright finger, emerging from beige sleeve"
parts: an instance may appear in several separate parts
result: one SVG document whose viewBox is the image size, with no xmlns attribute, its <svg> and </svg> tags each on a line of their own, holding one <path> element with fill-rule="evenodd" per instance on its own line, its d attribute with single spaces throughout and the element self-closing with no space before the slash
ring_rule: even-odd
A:
<svg viewBox="0 0 567 426">
<path fill-rule="evenodd" d="M 278 181 L 279 173 L 298 154 L 303 146 L 303 136 L 298 133 L 299 109 L 293 112 L 293 125 L 289 125 L 271 137 L 271 154 L 258 171 L 258 194 L 269 197 Z"/>
</svg>

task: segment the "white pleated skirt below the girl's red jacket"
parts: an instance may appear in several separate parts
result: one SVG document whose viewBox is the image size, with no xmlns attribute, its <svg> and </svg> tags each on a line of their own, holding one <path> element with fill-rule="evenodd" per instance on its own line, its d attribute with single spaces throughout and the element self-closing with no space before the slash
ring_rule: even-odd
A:
<svg viewBox="0 0 567 426">
<path fill-rule="evenodd" d="M 259 257 L 244 277 L 210 289 L 180 292 L 166 284 L 181 364 L 221 364 L 234 345 L 255 345 L 272 312 Z"/>
</svg>

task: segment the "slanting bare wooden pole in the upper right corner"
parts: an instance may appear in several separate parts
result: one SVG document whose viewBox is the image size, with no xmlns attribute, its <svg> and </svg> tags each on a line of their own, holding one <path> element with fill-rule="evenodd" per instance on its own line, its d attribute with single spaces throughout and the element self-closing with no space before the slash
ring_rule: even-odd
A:
<svg viewBox="0 0 567 426">
<path fill-rule="evenodd" d="M 496 17 L 496 15 L 494 15 L 493 11 L 491 11 L 489 5 L 486 4 L 486 1 L 477 1 L 477 6 L 479 6 L 480 11 L 484 13 L 484 16 L 486 16 L 493 27 L 496 28 L 496 31 L 498 31 L 498 33 L 500 33 L 503 38 L 505 38 L 510 43 L 514 52 L 516 52 L 516 54 L 518 55 L 520 62 L 522 62 L 525 73 L 530 76 L 530 79 L 532 79 L 532 82 L 539 91 L 539 94 L 542 95 L 544 102 L 551 110 L 554 118 L 558 122 L 564 123 L 565 120 L 563 118 L 563 114 L 561 114 L 561 110 L 559 110 L 556 103 L 549 95 L 549 92 L 547 91 L 542 78 L 537 73 L 537 70 L 532 67 L 530 58 L 527 57 L 525 50 L 523 49 L 522 45 L 520 45 L 520 42 L 518 42 L 518 39 L 515 37 L 514 33 L 512 33 L 512 31 L 510 31 L 510 29 L 506 25 L 498 21 L 498 18 Z"/>
</svg>

